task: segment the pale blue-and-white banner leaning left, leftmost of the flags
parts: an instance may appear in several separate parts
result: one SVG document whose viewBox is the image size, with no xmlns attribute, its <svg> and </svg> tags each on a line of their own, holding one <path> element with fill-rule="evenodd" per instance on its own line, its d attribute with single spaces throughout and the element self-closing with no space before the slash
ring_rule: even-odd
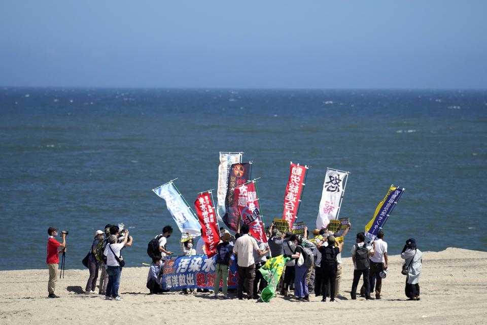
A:
<svg viewBox="0 0 487 325">
<path fill-rule="evenodd" d="M 152 191 L 166 201 L 167 210 L 169 210 L 182 234 L 188 233 L 191 238 L 201 235 L 201 225 L 198 218 L 172 181 L 154 188 Z"/>
</svg>

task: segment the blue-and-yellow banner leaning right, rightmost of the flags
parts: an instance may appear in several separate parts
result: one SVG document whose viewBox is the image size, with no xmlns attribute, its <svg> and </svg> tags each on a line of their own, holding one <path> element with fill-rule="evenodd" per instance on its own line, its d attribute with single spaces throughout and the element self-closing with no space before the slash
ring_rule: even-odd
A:
<svg viewBox="0 0 487 325">
<path fill-rule="evenodd" d="M 404 190 L 405 188 L 395 187 L 394 184 L 389 187 L 384 200 L 380 201 L 377 205 L 374 216 L 365 225 L 365 237 L 370 240 L 375 240 L 377 233 L 386 223 Z"/>
</svg>

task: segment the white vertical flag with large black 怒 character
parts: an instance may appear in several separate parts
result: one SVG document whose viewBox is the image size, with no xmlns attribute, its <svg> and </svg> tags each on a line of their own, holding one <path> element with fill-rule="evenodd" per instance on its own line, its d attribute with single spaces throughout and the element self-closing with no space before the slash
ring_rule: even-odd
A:
<svg viewBox="0 0 487 325">
<path fill-rule="evenodd" d="M 327 168 L 316 228 L 326 228 L 330 220 L 337 218 L 348 175 L 348 172 Z"/>
</svg>

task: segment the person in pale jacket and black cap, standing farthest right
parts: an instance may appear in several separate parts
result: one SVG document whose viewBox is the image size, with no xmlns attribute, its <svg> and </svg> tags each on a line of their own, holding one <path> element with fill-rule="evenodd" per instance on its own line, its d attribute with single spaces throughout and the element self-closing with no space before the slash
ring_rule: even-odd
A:
<svg viewBox="0 0 487 325">
<path fill-rule="evenodd" d="M 423 253 L 416 247 L 416 240 L 409 238 L 401 252 L 407 267 L 406 287 L 404 289 L 409 300 L 420 300 L 420 274 L 423 263 Z"/>
</svg>

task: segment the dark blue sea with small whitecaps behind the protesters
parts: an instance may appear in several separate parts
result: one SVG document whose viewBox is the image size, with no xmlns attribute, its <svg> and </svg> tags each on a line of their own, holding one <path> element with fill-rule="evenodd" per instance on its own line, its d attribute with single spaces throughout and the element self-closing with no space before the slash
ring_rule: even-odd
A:
<svg viewBox="0 0 487 325">
<path fill-rule="evenodd" d="M 409 237 L 487 250 L 487 91 L 6 87 L 0 114 L 0 269 L 45 268 L 50 225 L 70 231 L 66 268 L 118 222 L 134 238 L 128 266 L 149 262 L 149 240 L 175 225 L 151 189 L 178 177 L 193 202 L 217 188 L 219 151 L 254 161 L 265 220 L 282 216 L 289 161 L 310 165 L 309 228 L 326 168 L 350 171 L 344 256 L 392 183 L 406 191 L 385 225 L 390 254 Z"/>
</svg>

